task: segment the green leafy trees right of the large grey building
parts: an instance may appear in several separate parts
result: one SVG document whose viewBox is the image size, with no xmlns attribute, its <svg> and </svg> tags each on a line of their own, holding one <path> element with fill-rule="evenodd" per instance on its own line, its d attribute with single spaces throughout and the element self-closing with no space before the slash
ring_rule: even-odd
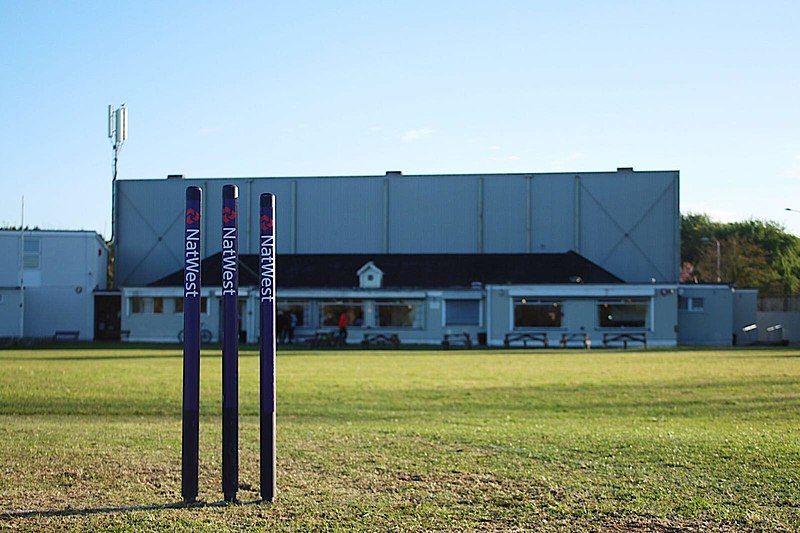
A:
<svg viewBox="0 0 800 533">
<path fill-rule="evenodd" d="M 707 240 L 704 240 L 707 239 Z M 717 222 L 708 215 L 681 216 L 681 258 L 694 265 L 700 282 L 720 277 L 739 287 L 757 287 L 763 296 L 800 293 L 800 238 L 776 222 L 745 220 Z"/>
</svg>

